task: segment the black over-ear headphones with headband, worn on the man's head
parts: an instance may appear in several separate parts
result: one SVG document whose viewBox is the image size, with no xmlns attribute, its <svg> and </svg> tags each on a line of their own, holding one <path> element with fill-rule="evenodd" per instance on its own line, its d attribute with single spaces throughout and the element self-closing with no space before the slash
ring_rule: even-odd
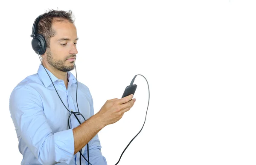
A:
<svg viewBox="0 0 256 165">
<path fill-rule="evenodd" d="M 30 35 L 30 37 L 33 38 L 31 41 L 32 48 L 36 52 L 36 54 L 39 54 L 39 55 L 43 55 L 46 51 L 46 41 L 44 39 L 44 36 L 41 34 L 37 34 L 38 22 L 41 19 L 41 17 L 42 15 L 39 15 L 35 19 L 35 22 L 32 28 L 32 35 Z"/>
</svg>

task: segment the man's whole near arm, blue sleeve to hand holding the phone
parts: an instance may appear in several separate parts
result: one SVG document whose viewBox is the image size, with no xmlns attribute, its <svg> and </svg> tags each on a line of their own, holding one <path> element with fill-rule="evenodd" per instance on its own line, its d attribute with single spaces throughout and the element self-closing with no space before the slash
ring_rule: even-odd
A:
<svg viewBox="0 0 256 165">
<path fill-rule="evenodd" d="M 41 164 L 70 163 L 73 154 L 83 148 L 108 124 L 113 124 L 131 109 L 133 95 L 106 101 L 98 113 L 74 129 L 52 133 L 44 115 L 41 96 L 31 87 L 16 87 L 10 96 L 11 117 L 22 140 Z M 90 148 L 89 148 L 90 149 Z"/>
</svg>

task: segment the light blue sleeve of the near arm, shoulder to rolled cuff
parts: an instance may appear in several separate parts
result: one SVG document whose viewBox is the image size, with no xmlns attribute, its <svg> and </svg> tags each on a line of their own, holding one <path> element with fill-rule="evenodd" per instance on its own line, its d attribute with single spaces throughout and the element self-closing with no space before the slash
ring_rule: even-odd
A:
<svg viewBox="0 0 256 165">
<path fill-rule="evenodd" d="M 16 87 L 10 96 L 9 109 L 20 138 L 41 164 L 70 163 L 74 154 L 73 130 L 52 133 L 36 90 Z"/>
</svg>

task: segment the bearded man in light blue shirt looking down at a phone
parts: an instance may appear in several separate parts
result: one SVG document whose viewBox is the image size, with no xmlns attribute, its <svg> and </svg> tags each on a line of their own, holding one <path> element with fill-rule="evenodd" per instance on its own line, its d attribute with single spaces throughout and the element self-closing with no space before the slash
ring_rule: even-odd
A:
<svg viewBox="0 0 256 165">
<path fill-rule="evenodd" d="M 87 150 L 90 164 L 107 165 L 97 133 L 121 119 L 136 99 L 130 95 L 108 100 L 94 114 L 90 90 L 81 82 L 77 84 L 70 72 L 78 53 L 71 11 L 50 10 L 42 14 L 37 33 L 46 41 L 42 64 L 37 74 L 17 84 L 9 100 L 23 155 L 21 165 L 79 165 L 80 161 L 87 165 L 79 152 L 88 160 Z"/>
</svg>

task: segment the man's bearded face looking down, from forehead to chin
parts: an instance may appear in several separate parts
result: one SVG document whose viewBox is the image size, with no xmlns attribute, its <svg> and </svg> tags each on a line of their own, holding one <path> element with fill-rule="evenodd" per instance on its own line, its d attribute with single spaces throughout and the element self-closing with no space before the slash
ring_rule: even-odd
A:
<svg viewBox="0 0 256 165">
<path fill-rule="evenodd" d="M 55 36 L 50 38 L 50 48 L 47 48 L 45 53 L 47 62 L 62 72 L 73 70 L 78 53 L 76 26 L 65 20 L 52 23 L 52 29 Z"/>
</svg>

